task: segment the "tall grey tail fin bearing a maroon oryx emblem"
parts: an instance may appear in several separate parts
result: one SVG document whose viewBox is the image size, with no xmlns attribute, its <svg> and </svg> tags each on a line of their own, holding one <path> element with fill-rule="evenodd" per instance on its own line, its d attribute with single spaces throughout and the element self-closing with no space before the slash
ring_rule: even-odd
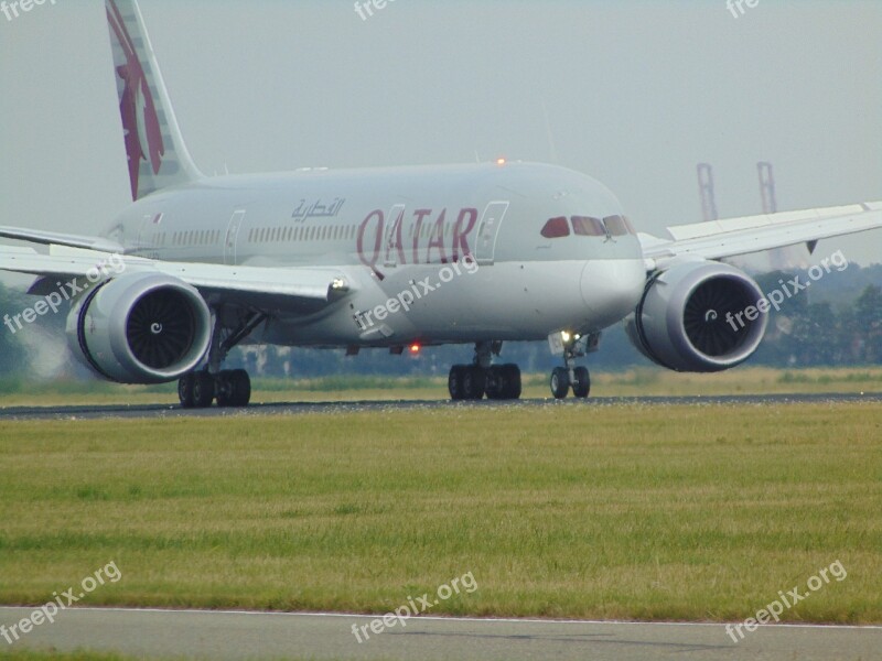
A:
<svg viewBox="0 0 882 661">
<path fill-rule="evenodd" d="M 174 117 L 137 0 L 105 0 L 132 199 L 202 177 Z"/>
</svg>

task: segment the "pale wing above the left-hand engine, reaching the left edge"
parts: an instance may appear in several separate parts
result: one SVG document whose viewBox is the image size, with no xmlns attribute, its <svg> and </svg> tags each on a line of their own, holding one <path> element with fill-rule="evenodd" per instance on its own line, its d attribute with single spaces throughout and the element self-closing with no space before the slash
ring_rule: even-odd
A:
<svg viewBox="0 0 882 661">
<path fill-rule="evenodd" d="M 346 275 L 335 269 L 258 268 L 165 262 L 140 257 L 51 246 L 49 254 L 33 248 L 0 246 L 0 270 L 37 275 L 32 294 L 58 291 L 58 282 L 77 279 L 80 286 L 105 277 L 154 272 L 195 286 L 208 302 L 239 304 L 269 312 L 309 313 L 351 291 Z M 89 275 L 96 280 L 89 280 Z"/>
</svg>

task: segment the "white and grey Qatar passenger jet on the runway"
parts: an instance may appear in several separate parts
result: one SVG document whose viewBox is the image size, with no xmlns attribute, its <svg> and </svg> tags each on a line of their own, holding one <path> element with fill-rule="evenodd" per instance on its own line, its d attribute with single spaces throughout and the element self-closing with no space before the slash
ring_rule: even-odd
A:
<svg viewBox="0 0 882 661">
<path fill-rule="evenodd" d="M 665 368 L 730 369 L 760 345 L 768 304 L 720 260 L 882 227 L 882 202 L 870 202 L 654 237 L 600 182 L 504 160 L 209 177 L 187 152 L 137 0 L 105 4 L 132 204 L 98 236 L 0 227 L 31 245 L 0 247 L 0 269 L 36 277 L 30 317 L 71 302 L 71 350 L 96 375 L 176 380 L 183 408 L 248 405 L 249 375 L 223 369 L 244 343 L 351 355 L 473 345 L 450 369 L 453 400 L 520 398 L 520 369 L 501 361 L 520 340 L 560 357 L 555 398 L 587 398 L 577 361 L 622 322 Z M 3 318 L 22 321 L 33 318 Z"/>
</svg>

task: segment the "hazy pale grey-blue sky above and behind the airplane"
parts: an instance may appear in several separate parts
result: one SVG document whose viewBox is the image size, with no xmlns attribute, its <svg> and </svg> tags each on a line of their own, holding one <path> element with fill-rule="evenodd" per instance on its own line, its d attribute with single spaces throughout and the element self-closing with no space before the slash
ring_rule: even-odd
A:
<svg viewBox="0 0 882 661">
<path fill-rule="evenodd" d="M 206 173 L 549 161 L 642 230 L 882 199 L 882 2 L 141 0 Z M 97 232 L 129 202 L 103 0 L 0 14 L 0 224 Z M 828 241 L 882 261 L 882 232 Z"/>
</svg>

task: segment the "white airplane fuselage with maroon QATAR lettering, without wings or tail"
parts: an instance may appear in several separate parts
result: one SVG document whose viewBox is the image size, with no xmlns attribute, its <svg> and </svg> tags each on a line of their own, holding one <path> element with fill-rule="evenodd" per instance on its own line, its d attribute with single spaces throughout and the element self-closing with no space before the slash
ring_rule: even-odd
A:
<svg viewBox="0 0 882 661">
<path fill-rule="evenodd" d="M 315 314 L 280 306 L 252 339 L 405 346 L 584 334 L 633 312 L 637 237 L 577 234 L 574 217 L 624 214 L 600 183 L 549 165 L 303 171 L 166 188 L 107 235 L 158 260 L 334 268 L 349 295 Z M 566 236 L 546 236 L 552 218 Z"/>
</svg>

